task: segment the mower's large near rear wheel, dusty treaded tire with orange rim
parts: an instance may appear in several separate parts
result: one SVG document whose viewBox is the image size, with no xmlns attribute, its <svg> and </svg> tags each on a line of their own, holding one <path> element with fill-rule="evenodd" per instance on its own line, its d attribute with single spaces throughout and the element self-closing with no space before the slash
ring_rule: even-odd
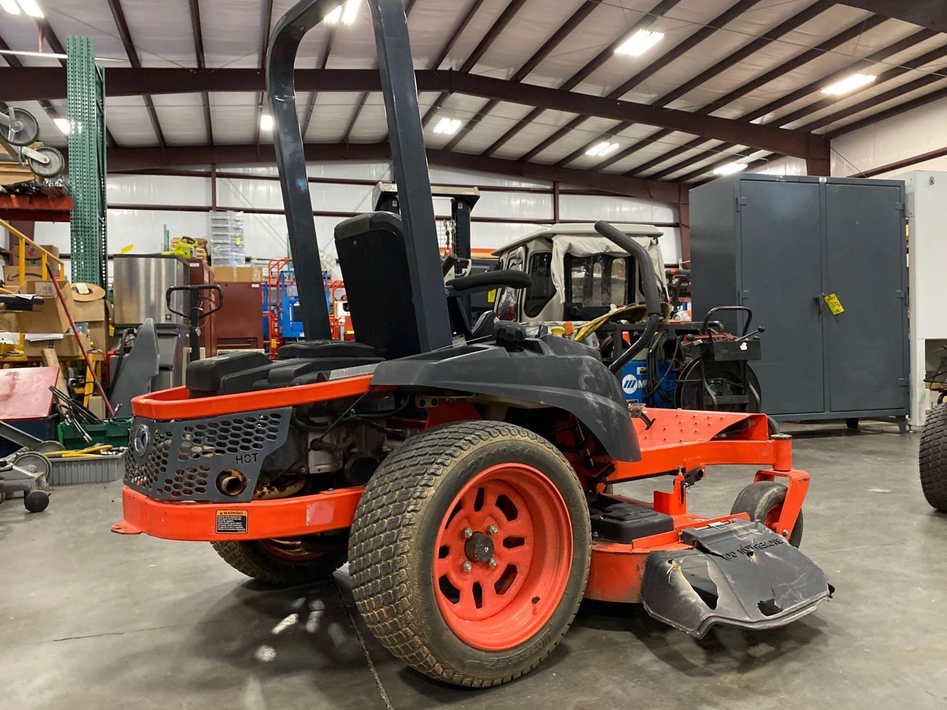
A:
<svg viewBox="0 0 947 710">
<path fill-rule="evenodd" d="M 585 589 L 588 506 L 544 438 L 497 421 L 410 437 L 368 481 L 349 535 L 368 628 L 432 678 L 509 683 L 559 644 Z"/>
</svg>

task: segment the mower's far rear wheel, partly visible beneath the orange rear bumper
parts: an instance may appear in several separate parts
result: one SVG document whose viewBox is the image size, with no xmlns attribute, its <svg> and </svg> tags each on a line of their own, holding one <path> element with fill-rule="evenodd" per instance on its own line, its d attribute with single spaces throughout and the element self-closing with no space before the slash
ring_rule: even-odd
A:
<svg viewBox="0 0 947 710">
<path fill-rule="evenodd" d="M 211 542 L 224 562 L 247 577 L 280 587 L 329 579 L 346 563 L 345 555 L 295 551 L 287 541 Z"/>
</svg>

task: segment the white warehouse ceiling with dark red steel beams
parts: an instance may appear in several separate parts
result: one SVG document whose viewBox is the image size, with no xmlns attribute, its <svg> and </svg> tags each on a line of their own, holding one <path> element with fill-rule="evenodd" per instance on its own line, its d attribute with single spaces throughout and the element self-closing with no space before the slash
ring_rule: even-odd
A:
<svg viewBox="0 0 947 710">
<path fill-rule="evenodd" d="M 352 71 L 376 67 L 369 12 L 350 2 L 351 24 L 316 27 L 296 63 L 313 159 L 387 154 L 377 74 Z M 103 63 L 110 169 L 272 160 L 259 68 L 291 2 L 40 4 L 42 20 L 0 12 L 0 48 L 35 51 L 42 34 L 60 51 L 81 34 L 121 60 Z M 824 171 L 826 136 L 947 96 L 944 18 L 925 5 L 937 4 L 405 0 L 432 163 L 650 196 L 734 161 L 788 154 Z M 663 37 L 622 53 L 639 30 Z M 43 115 L 44 139 L 64 144 L 52 122 L 66 114 L 62 62 L 3 59 L 0 98 Z M 856 73 L 868 82 L 823 92 Z M 443 118 L 455 133 L 436 132 Z"/>
</svg>

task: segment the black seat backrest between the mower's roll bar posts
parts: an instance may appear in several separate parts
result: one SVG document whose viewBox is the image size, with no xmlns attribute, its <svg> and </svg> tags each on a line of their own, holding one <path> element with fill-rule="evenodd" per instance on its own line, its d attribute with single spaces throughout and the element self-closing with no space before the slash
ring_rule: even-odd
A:
<svg viewBox="0 0 947 710">
<path fill-rule="evenodd" d="M 339 222 L 335 249 L 355 340 L 387 360 L 420 353 L 401 218 L 367 212 Z"/>
</svg>

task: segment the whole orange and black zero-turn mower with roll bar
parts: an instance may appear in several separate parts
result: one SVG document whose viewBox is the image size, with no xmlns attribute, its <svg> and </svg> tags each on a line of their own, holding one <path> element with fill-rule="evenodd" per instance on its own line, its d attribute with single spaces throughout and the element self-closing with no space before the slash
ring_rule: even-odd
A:
<svg viewBox="0 0 947 710">
<path fill-rule="evenodd" d="M 304 328 L 326 339 L 283 346 L 276 361 L 198 361 L 188 388 L 134 399 L 113 529 L 210 541 L 276 584 L 329 578 L 348 559 L 358 610 L 384 647 L 462 685 L 537 666 L 583 596 L 643 602 L 695 635 L 811 612 L 831 587 L 795 549 L 809 474 L 766 417 L 633 416 L 594 348 L 462 317 L 459 297 L 529 278 L 443 281 L 401 0 L 368 2 L 401 217 L 336 226 L 356 341 L 328 340 L 293 63 L 339 4 L 291 9 L 267 62 Z M 729 513 L 688 512 L 688 488 L 716 464 L 758 470 Z M 650 501 L 605 492 L 659 475 L 670 490 Z"/>
</svg>

